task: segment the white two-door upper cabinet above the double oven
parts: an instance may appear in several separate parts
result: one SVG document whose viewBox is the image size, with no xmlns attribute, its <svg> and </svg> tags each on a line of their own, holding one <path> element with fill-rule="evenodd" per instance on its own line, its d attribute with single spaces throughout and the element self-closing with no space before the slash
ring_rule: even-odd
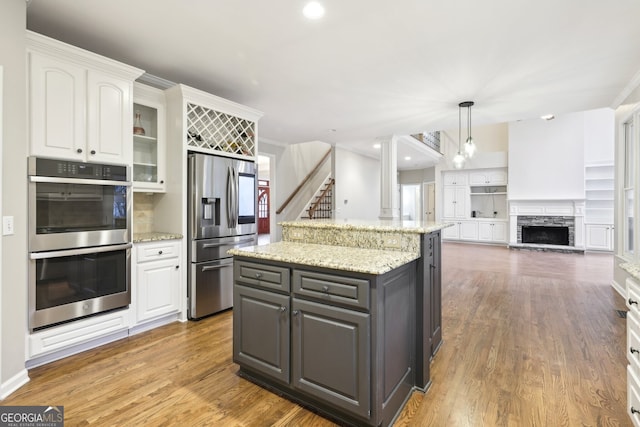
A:
<svg viewBox="0 0 640 427">
<path fill-rule="evenodd" d="M 128 165 L 142 70 L 27 32 L 30 154 Z"/>
</svg>

